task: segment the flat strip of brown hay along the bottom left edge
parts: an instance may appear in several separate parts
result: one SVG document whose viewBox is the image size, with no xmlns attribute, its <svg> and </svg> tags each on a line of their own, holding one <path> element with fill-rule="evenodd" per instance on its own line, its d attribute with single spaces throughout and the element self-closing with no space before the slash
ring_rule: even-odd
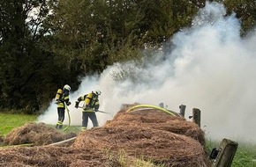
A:
<svg viewBox="0 0 256 167">
<path fill-rule="evenodd" d="M 121 166 L 115 155 L 109 159 L 99 149 L 72 149 L 55 146 L 0 149 L 0 167 L 107 167 Z"/>
</svg>

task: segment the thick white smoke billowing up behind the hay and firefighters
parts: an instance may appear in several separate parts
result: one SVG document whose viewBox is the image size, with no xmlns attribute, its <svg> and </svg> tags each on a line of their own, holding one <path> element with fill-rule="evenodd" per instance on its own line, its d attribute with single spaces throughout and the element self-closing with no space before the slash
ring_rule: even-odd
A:
<svg viewBox="0 0 256 167">
<path fill-rule="evenodd" d="M 138 76 L 136 82 L 115 82 L 111 74 L 118 71 L 118 64 L 100 76 L 84 78 L 79 90 L 71 94 L 72 125 L 81 124 L 81 111 L 74 108 L 75 100 L 100 89 L 100 110 L 111 113 L 97 113 L 100 125 L 111 120 L 122 104 L 163 102 L 177 113 L 183 104 L 186 118 L 192 108 L 201 110 L 201 127 L 210 139 L 255 142 L 256 33 L 242 39 L 235 14 L 225 15 L 222 4 L 207 2 L 192 26 L 166 43 L 171 46 L 168 52 L 161 50 L 155 56 L 158 59 L 143 69 L 132 62 L 122 64 L 124 69 L 133 69 L 133 75 Z M 52 102 L 39 121 L 56 124 L 56 119 L 56 105 Z"/>
</svg>

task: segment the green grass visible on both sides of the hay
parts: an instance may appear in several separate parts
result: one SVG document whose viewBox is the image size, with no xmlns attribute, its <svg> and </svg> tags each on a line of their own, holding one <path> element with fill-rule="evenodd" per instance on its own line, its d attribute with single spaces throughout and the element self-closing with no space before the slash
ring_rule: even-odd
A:
<svg viewBox="0 0 256 167">
<path fill-rule="evenodd" d="M 36 121 L 36 115 L 0 113 L 0 135 L 11 132 L 14 127 L 23 126 L 27 122 Z M 69 127 L 67 132 L 78 132 L 80 127 Z M 218 148 L 220 142 L 207 140 L 207 152 Z M 238 148 L 231 167 L 256 167 L 256 143 L 238 142 Z"/>
</svg>

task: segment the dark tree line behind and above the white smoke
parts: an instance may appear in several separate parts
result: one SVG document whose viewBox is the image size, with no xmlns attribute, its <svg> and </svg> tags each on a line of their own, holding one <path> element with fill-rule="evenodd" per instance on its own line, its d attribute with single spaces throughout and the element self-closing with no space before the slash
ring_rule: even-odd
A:
<svg viewBox="0 0 256 167">
<path fill-rule="evenodd" d="M 254 0 L 219 0 L 252 29 Z M 139 59 L 190 26 L 206 0 L 0 0 L 0 108 L 40 110 L 56 89 Z M 228 13 L 228 14 L 229 14 Z"/>
</svg>

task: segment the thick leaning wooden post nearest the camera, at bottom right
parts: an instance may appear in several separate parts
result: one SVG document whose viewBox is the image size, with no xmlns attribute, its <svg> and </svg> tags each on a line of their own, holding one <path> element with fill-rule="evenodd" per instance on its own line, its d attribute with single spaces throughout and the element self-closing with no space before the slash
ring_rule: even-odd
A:
<svg viewBox="0 0 256 167">
<path fill-rule="evenodd" d="M 237 142 L 223 139 L 212 167 L 230 167 L 238 147 Z"/>
</svg>

